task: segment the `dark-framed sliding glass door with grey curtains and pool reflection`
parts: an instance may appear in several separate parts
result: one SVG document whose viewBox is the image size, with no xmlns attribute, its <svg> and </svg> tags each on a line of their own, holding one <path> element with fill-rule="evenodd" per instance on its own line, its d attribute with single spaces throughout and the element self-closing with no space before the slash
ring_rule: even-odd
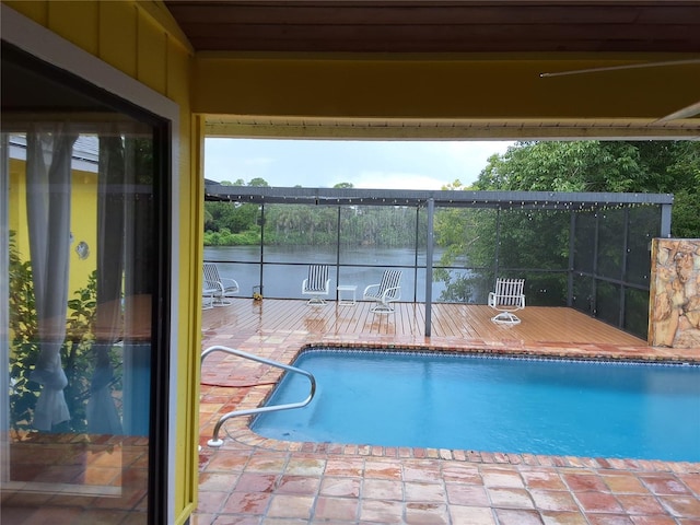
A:
<svg viewBox="0 0 700 525">
<path fill-rule="evenodd" d="M 167 122 L 7 45 L 1 100 L 2 521 L 153 521 Z"/>
</svg>

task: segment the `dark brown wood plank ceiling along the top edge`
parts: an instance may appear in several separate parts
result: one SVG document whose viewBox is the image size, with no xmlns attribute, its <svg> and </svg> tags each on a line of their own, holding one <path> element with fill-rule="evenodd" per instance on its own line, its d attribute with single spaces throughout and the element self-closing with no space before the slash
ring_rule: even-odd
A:
<svg viewBox="0 0 700 525">
<path fill-rule="evenodd" d="M 688 0 L 166 0 L 197 51 L 700 52 Z"/>
</svg>

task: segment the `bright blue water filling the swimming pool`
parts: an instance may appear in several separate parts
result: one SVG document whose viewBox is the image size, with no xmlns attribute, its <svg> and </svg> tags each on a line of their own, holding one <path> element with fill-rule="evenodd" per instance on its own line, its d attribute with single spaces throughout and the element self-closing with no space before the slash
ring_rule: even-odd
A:
<svg viewBox="0 0 700 525">
<path fill-rule="evenodd" d="M 700 366 L 319 349 L 306 407 L 258 416 L 287 441 L 700 462 Z M 295 402 L 287 374 L 268 405 Z"/>
</svg>

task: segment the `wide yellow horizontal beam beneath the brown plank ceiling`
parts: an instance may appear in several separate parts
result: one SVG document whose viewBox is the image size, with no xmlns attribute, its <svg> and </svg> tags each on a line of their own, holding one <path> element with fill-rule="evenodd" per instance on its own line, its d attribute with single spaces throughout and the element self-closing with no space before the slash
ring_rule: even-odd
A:
<svg viewBox="0 0 700 525">
<path fill-rule="evenodd" d="M 697 102 L 697 66 L 665 67 L 663 74 L 654 68 L 557 78 L 540 73 L 672 58 L 679 57 L 199 54 L 192 109 L 312 118 L 657 118 Z"/>
</svg>

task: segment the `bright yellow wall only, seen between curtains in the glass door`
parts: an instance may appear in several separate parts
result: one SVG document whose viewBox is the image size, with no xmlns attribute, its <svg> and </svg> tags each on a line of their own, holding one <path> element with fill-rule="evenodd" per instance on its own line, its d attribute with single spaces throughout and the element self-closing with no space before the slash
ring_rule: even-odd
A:
<svg viewBox="0 0 700 525">
<path fill-rule="evenodd" d="M 21 260 L 28 260 L 30 237 L 26 225 L 26 163 L 10 159 L 10 230 L 16 232 L 15 241 Z M 70 252 L 70 275 L 68 299 L 75 299 L 74 292 L 88 285 L 88 278 L 96 267 L 97 246 L 97 174 L 74 170 L 72 174 L 72 197 L 70 231 L 73 242 Z M 81 241 L 88 243 L 90 256 L 78 257 L 75 246 Z"/>
</svg>

